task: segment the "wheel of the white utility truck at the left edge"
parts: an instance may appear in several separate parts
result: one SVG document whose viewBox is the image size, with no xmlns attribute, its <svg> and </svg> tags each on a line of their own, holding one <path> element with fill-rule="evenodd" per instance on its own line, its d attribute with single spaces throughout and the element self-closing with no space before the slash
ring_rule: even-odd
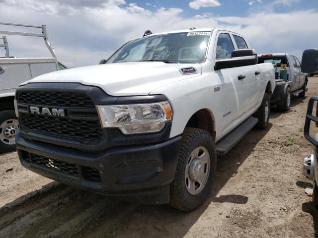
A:
<svg viewBox="0 0 318 238">
<path fill-rule="evenodd" d="M 0 152 L 15 150 L 15 134 L 19 123 L 14 111 L 0 112 Z"/>
</svg>

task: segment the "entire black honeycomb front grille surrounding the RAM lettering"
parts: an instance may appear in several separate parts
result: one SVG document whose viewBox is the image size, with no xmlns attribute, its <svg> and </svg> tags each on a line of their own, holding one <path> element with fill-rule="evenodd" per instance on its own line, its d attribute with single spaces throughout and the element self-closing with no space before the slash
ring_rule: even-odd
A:
<svg viewBox="0 0 318 238">
<path fill-rule="evenodd" d="M 93 101 L 80 92 L 19 91 L 17 94 L 21 131 L 98 143 L 104 139 Z M 65 117 L 29 114 L 28 107 L 63 108 Z M 89 112 L 88 112 L 88 111 Z M 72 113 L 72 115 L 71 115 Z"/>
</svg>

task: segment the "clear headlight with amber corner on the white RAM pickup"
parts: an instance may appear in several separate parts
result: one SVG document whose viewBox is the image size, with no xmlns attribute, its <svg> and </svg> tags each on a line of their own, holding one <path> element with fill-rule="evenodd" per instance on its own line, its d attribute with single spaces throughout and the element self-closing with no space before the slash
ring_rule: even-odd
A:
<svg viewBox="0 0 318 238">
<path fill-rule="evenodd" d="M 124 134 L 158 132 L 172 119 L 168 102 L 97 106 L 103 127 L 117 127 Z"/>
</svg>

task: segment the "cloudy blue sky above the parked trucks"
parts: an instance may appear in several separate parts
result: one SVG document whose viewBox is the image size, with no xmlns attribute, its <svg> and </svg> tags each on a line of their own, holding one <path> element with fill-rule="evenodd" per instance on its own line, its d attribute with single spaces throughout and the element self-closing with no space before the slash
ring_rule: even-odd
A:
<svg viewBox="0 0 318 238">
<path fill-rule="evenodd" d="M 301 58 L 305 49 L 318 48 L 318 0 L 0 0 L 0 22 L 46 24 L 58 60 L 68 67 L 98 64 L 148 29 L 218 27 L 244 35 L 259 54 Z M 10 56 L 50 57 L 41 38 L 7 40 Z"/>
</svg>

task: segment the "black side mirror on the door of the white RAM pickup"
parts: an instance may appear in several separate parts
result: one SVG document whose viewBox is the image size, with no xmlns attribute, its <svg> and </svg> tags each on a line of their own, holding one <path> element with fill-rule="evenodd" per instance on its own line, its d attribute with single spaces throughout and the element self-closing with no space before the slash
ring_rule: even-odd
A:
<svg viewBox="0 0 318 238">
<path fill-rule="evenodd" d="M 257 53 L 254 49 L 234 50 L 231 59 L 216 60 L 214 69 L 234 68 L 257 64 Z"/>
</svg>

